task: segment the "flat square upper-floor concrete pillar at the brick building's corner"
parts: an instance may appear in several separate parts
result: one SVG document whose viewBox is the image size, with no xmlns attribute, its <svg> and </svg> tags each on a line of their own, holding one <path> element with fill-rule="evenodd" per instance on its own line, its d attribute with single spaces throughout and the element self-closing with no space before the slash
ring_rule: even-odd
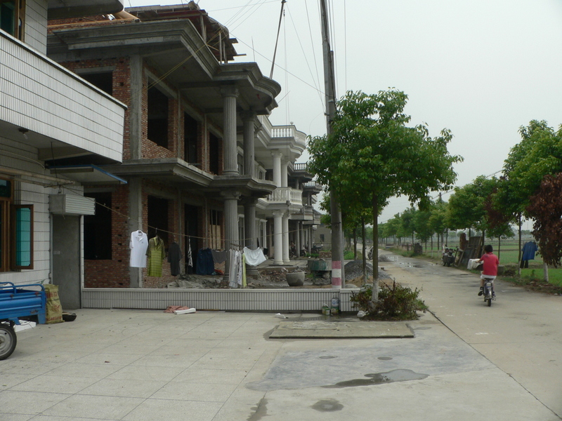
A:
<svg viewBox="0 0 562 421">
<path fill-rule="evenodd" d="M 143 140 L 143 58 L 140 55 L 131 55 L 129 62 L 131 72 L 131 95 L 129 102 L 129 150 L 131 159 L 141 159 L 143 154 L 141 145 Z"/>
</svg>

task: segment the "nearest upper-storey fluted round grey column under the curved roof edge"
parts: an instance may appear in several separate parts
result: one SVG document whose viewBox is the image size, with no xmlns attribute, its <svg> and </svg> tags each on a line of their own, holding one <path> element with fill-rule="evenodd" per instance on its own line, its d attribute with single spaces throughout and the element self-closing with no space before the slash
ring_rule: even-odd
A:
<svg viewBox="0 0 562 421">
<path fill-rule="evenodd" d="M 239 175 L 236 147 L 236 98 L 238 90 L 234 87 L 221 88 L 223 95 L 223 159 L 224 175 Z"/>
</svg>

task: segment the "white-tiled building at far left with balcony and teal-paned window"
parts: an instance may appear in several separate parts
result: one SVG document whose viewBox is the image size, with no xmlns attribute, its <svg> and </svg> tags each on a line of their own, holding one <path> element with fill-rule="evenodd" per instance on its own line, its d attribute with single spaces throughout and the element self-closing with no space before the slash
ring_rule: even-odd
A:
<svg viewBox="0 0 562 421">
<path fill-rule="evenodd" d="M 122 161 L 125 106 L 46 57 L 47 20 L 122 10 L 120 0 L 0 2 L 0 282 L 72 286 L 80 306 L 80 180 L 120 182 L 94 163 Z M 79 172 L 47 168 L 79 159 Z"/>
</svg>

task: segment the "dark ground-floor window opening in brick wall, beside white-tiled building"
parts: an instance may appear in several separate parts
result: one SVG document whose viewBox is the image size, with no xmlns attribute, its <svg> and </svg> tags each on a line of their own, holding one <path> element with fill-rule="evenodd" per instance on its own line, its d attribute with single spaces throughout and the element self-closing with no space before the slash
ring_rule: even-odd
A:
<svg viewBox="0 0 562 421">
<path fill-rule="evenodd" d="M 111 260 L 111 193 L 85 193 L 96 200 L 96 215 L 84 216 L 84 259 Z"/>
</svg>

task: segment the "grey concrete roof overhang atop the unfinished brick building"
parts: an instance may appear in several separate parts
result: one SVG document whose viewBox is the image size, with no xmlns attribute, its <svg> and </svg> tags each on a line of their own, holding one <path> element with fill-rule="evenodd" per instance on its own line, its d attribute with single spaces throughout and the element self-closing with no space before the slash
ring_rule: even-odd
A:
<svg viewBox="0 0 562 421">
<path fill-rule="evenodd" d="M 112 21 L 114 22 L 114 21 Z M 110 25 L 50 27 L 48 56 L 57 62 L 140 55 L 166 85 L 177 86 L 190 104 L 223 126 L 222 88 L 237 89 L 238 112 L 268 115 L 281 86 L 255 62 L 221 64 L 190 20 L 117 21 Z M 155 86 L 159 80 L 151 81 Z M 162 85 L 163 92 L 167 88 Z M 238 123 L 242 125 L 239 116 Z"/>
</svg>

